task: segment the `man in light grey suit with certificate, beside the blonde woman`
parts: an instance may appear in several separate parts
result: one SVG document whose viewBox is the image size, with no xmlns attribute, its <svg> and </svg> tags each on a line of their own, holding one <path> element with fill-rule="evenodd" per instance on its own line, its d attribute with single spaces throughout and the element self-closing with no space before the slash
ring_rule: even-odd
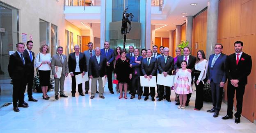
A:
<svg viewBox="0 0 256 133">
<path fill-rule="evenodd" d="M 57 48 L 57 54 L 53 55 L 52 62 L 51 62 L 52 73 L 54 75 L 54 81 L 55 81 L 54 91 L 55 91 L 55 99 L 56 100 L 59 99 L 59 96 L 64 97 L 64 98 L 68 97 L 63 92 L 64 92 L 64 81 L 69 73 L 69 64 L 68 64 L 66 55 L 63 55 L 62 53 L 63 53 L 63 47 L 59 46 Z M 62 67 L 62 75 L 60 76 L 60 79 L 57 78 L 57 74 L 55 72 L 56 66 Z M 60 86 L 59 86 L 59 84 L 60 84 Z M 60 89 L 60 91 L 59 91 L 59 89 Z M 59 93 L 60 93 L 60 95 L 59 95 Z"/>
</svg>

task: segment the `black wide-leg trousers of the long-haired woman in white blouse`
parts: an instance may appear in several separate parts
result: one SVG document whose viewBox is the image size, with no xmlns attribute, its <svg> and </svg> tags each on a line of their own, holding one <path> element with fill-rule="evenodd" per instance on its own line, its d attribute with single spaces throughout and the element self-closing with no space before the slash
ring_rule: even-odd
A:
<svg viewBox="0 0 256 133">
<path fill-rule="evenodd" d="M 196 70 L 197 71 L 197 70 Z M 194 76 L 195 76 L 195 81 L 198 80 L 198 77 L 200 75 L 201 71 L 197 71 Z M 201 109 L 203 108 L 203 87 L 204 87 L 204 83 L 207 82 L 207 78 L 205 78 L 206 80 L 204 81 L 200 81 L 199 84 L 196 84 L 196 103 L 195 103 L 195 109 Z"/>
</svg>

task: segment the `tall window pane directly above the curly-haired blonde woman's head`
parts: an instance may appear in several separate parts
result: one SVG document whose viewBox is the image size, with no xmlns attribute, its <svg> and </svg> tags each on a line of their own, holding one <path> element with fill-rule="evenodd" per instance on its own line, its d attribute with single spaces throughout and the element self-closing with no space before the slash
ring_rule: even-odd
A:
<svg viewBox="0 0 256 133">
<path fill-rule="evenodd" d="M 39 20 L 39 41 L 40 46 L 49 45 L 49 23 L 41 19 Z"/>
</svg>

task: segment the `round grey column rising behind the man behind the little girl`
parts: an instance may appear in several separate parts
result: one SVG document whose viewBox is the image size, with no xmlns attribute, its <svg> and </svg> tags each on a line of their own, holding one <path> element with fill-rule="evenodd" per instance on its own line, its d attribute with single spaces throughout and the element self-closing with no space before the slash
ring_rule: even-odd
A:
<svg viewBox="0 0 256 133">
<path fill-rule="evenodd" d="M 189 42 L 190 49 L 192 48 L 193 18 L 194 16 L 186 16 L 186 40 Z"/>
</svg>

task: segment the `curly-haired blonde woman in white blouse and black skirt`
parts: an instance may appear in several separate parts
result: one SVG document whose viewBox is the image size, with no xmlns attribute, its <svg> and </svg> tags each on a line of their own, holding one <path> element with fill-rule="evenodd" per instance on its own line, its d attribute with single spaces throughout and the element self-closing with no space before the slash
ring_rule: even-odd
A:
<svg viewBox="0 0 256 133">
<path fill-rule="evenodd" d="M 48 85 L 50 83 L 50 69 L 51 69 L 51 55 L 49 53 L 49 47 L 43 44 L 40 49 L 40 53 L 37 54 L 35 59 L 35 66 L 39 72 L 39 82 L 43 92 L 43 99 L 48 100 L 50 97 L 47 95 Z"/>
</svg>

